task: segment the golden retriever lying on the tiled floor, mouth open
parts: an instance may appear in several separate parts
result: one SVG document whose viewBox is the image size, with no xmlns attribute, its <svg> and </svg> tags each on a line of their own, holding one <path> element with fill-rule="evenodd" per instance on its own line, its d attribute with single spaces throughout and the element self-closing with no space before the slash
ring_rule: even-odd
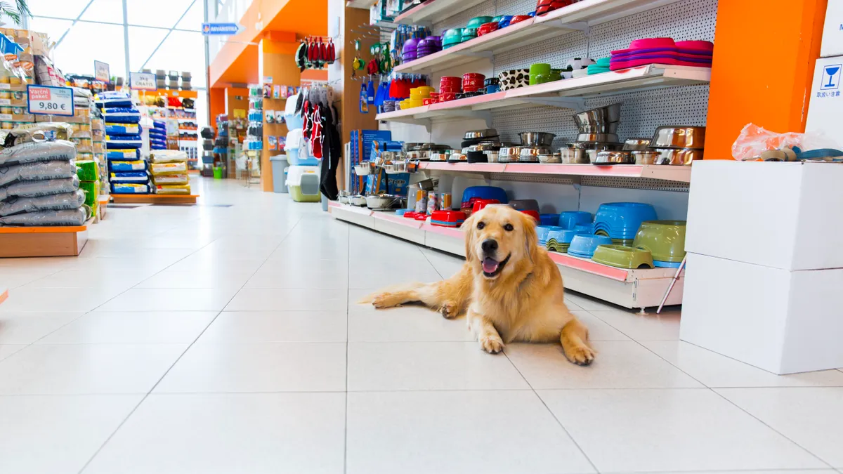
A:
<svg viewBox="0 0 843 474">
<path fill-rule="evenodd" d="M 463 224 L 465 264 L 437 283 L 412 283 L 364 300 L 375 308 L 421 302 L 448 319 L 466 312 L 469 330 L 487 353 L 507 342 L 561 342 L 566 358 L 588 365 L 588 328 L 565 305 L 562 277 L 539 246 L 534 219 L 503 205 L 487 206 Z"/>
</svg>

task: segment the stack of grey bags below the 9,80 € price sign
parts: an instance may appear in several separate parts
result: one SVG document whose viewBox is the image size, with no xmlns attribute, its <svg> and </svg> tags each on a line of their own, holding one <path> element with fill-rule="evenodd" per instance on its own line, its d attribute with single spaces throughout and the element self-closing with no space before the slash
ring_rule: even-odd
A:
<svg viewBox="0 0 843 474">
<path fill-rule="evenodd" d="M 20 138 L 13 132 L 6 143 Z M 76 146 L 67 140 L 29 141 L 0 151 L 0 225 L 84 224 L 90 210 L 75 160 Z"/>
</svg>

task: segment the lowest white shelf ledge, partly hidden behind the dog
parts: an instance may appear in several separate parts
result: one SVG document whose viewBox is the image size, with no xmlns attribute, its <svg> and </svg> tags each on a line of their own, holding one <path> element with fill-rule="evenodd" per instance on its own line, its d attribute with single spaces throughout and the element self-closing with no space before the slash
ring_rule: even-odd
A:
<svg viewBox="0 0 843 474">
<path fill-rule="evenodd" d="M 428 247 L 464 256 L 461 229 L 439 227 L 427 222 L 330 202 L 333 217 L 362 225 Z M 620 304 L 627 308 L 658 306 L 676 272 L 673 268 L 625 269 L 567 254 L 548 252 L 562 274 L 566 288 Z M 667 304 L 682 303 L 684 273 L 679 277 Z"/>
</svg>

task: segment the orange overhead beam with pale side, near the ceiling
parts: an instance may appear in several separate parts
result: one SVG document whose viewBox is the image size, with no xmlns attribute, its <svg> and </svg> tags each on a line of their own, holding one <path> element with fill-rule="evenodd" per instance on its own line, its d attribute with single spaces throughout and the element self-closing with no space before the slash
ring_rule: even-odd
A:
<svg viewBox="0 0 843 474">
<path fill-rule="evenodd" d="M 327 0 L 260 0 L 252 2 L 239 24 L 244 31 L 230 36 L 209 67 L 212 87 L 258 82 L 257 43 L 294 42 L 295 35 L 327 35 Z M 287 38 L 288 35 L 292 40 Z"/>
</svg>

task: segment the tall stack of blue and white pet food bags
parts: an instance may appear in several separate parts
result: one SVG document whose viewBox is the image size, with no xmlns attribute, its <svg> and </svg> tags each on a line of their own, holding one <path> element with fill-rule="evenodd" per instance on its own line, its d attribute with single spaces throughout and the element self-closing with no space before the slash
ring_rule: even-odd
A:
<svg viewBox="0 0 843 474">
<path fill-rule="evenodd" d="M 141 113 L 124 92 L 97 94 L 105 119 L 105 158 L 112 194 L 149 194 L 148 164 L 141 159 Z"/>
</svg>

